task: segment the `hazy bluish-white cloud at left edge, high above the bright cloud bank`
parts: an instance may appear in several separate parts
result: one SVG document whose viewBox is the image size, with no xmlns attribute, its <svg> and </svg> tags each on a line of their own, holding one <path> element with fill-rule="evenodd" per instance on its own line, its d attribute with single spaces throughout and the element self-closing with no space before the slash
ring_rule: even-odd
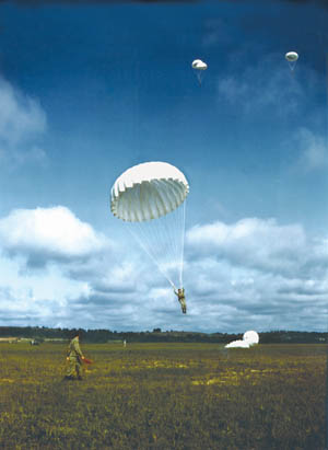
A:
<svg viewBox="0 0 328 450">
<path fill-rule="evenodd" d="M 47 118 L 39 102 L 0 77 L 0 154 L 19 161 L 44 159 L 33 141 L 46 130 Z"/>
</svg>

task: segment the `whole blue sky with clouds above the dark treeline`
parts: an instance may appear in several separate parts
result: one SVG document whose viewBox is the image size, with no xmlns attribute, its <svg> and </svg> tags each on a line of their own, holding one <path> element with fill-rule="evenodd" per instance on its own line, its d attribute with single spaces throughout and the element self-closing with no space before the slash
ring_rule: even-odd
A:
<svg viewBox="0 0 328 450">
<path fill-rule="evenodd" d="M 327 23 L 323 1 L 1 1 L 0 325 L 326 332 Z M 110 212 L 148 161 L 190 186 L 187 314 Z"/>
</svg>

